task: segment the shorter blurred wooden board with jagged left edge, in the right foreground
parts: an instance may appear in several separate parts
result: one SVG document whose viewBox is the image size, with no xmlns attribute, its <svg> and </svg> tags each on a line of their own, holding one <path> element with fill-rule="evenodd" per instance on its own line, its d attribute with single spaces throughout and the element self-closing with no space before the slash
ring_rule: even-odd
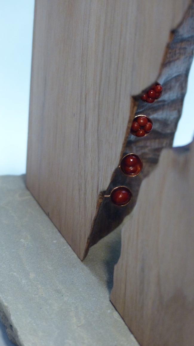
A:
<svg viewBox="0 0 194 346">
<path fill-rule="evenodd" d="M 194 345 L 194 142 L 164 149 L 122 230 L 111 302 L 141 346 Z"/>
</svg>

